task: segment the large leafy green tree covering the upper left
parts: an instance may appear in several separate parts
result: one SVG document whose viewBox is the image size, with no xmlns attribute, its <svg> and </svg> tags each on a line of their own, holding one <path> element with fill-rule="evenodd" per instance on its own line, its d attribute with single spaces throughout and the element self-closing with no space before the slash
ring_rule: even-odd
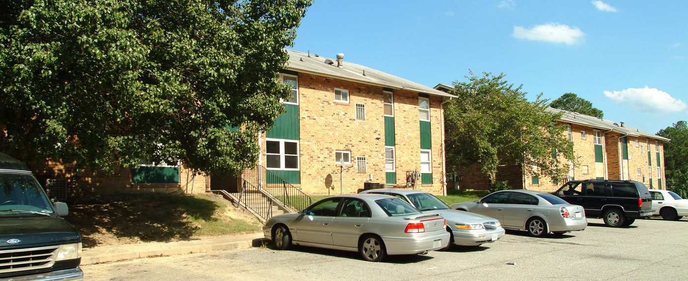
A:
<svg viewBox="0 0 688 281">
<path fill-rule="evenodd" d="M 0 6 L 0 150 L 105 171 L 228 173 L 283 112 L 310 0 L 16 0 Z"/>
</svg>

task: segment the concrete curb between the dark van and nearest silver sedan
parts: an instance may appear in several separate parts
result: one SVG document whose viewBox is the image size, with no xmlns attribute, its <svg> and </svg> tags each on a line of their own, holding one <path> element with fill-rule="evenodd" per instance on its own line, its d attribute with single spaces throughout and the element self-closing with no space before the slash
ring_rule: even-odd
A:
<svg viewBox="0 0 688 281">
<path fill-rule="evenodd" d="M 130 250 L 122 253 L 100 254 L 98 256 L 81 256 L 81 265 L 92 265 L 101 262 L 114 262 L 118 260 L 131 260 L 135 258 L 147 258 L 150 256 L 173 256 L 183 254 L 205 253 L 208 251 L 226 251 L 234 249 L 247 249 L 251 247 L 262 247 L 269 242 L 266 238 L 252 240 L 233 241 L 228 243 L 194 245 L 186 247 L 169 247 L 153 250 L 136 251 Z"/>
</svg>

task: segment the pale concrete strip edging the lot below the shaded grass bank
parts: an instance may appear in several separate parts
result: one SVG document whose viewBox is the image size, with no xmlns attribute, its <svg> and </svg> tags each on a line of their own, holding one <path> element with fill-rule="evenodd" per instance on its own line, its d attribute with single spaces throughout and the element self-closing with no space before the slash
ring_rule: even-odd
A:
<svg viewBox="0 0 688 281">
<path fill-rule="evenodd" d="M 173 240 L 169 242 L 146 242 L 125 245 L 97 246 L 83 249 L 81 264 L 89 265 L 98 262 L 113 262 L 148 256 L 171 256 L 180 254 L 203 253 L 245 249 L 267 245 L 262 232 L 231 236 L 210 236 L 193 239 Z"/>
</svg>

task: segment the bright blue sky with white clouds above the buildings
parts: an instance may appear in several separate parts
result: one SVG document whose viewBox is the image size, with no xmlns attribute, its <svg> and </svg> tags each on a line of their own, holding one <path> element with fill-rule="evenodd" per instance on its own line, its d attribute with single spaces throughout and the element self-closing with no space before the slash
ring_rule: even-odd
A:
<svg viewBox="0 0 688 281">
<path fill-rule="evenodd" d="M 504 72 L 530 100 L 576 93 L 649 133 L 688 120 L 683 0 L 315 0 L 289 49 L 428 87 Z"/>
</svg>

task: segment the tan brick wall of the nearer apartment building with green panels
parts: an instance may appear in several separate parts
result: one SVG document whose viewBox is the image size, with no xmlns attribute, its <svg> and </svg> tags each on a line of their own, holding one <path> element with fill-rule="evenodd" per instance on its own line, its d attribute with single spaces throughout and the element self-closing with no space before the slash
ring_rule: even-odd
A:
<svg viewBox="0 0 688 281">
<path fill-rule="evenodd" d="M 350 102 L 334 101 L 334 88 L 349 91 Z M 442 172 L 442 98 L 430 98 L 433 184 L 418 186 L 434 194 L 443 192 Z M 365 104 L 365 120 L 356 120 L 356 105 Z M 344 194 L 363 188 L 363 183 L 385 183 L 385 118 L 383 87 L 358 82 L 299 74 L 299 153 L 301 184 L 294 185 L 307 194 Z M 418 93 L 394 90 L 396 183 L 406 183 L 407 170 L 420 171 L 420 123 Z M 376 139 L 379 136 L 380 139 Z M 261 161 L 265 158 L 265 135 L 261 137 Z M 350 168 L 342 173 L 334 157 L 336 150 L 366 157 L 367 171 Z"/>
</svg>

